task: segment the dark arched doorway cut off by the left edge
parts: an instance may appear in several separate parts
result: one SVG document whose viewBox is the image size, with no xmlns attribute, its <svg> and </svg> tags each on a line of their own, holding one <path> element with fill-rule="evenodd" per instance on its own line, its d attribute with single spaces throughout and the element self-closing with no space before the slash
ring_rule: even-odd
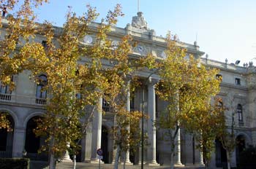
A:
<svg viewBox="0 0 256 169">
<path fill-rule="evenodd" d="M 1 114 L 6 114 L 7 120 L 10 122 L 10 127 L 12 130 L 7 130 L 6 128 L 0 129 L 0 157 L 12 157 L 12 142 L 13 142 L 13 130 L 15 127 L 14 120 L 12 116 L 6 112 Z"/>
</svg>

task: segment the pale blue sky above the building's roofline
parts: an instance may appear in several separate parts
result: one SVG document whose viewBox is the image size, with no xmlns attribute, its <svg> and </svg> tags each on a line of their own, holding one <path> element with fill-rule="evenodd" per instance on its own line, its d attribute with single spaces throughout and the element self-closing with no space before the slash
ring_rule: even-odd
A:
<svg viewBox="0 0 256 169">
<path fill-rule="evenodd" d="M 117 24 L 121 28 L 138 12 L 138 0 L 50 0 L 37 10 L 38 21 L 62 25 L 67 6 L 79 15 L 86 11 L 86 4 L 97 8 L 99 20 L 121 4 L 124 17 Z M 255 0 L 140 0 L 140 11 L 157 36 L 171 31 L 182 42 L 192 44 L 197 35 L 200 50 L 210 59 L 225 62 L 227 58 L 229 63 L 241 60 L 241 66 L 254 61 L 256 65 Z"/>
</svg>

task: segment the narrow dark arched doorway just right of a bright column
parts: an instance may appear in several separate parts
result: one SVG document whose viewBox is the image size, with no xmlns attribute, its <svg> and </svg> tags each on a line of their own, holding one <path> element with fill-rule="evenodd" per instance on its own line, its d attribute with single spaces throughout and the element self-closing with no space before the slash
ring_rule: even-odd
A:
<svg viewBox="0 0 256 169">
<path fill-rule="evenodd" d="M 101 143 L 101 149 L 103 150 L 103 159 L 102 161 L 105 164 L 110 163 L 109 162 L 109 152 L 108 152 L 108 129 L 105 126 L 102 126 L 102 143 Z"/>
</svg>

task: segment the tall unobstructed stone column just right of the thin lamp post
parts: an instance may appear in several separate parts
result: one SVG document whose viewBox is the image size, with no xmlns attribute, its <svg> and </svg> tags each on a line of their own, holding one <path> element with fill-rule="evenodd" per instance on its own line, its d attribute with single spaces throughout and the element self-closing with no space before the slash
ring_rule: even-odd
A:
<svg viewBox="0 0 256 169">
<path fill-rule="evenodd" d="M 157 164 L 157 133 L 154 122 L 156 121 L 156 93 L 155 84 L 157 79 L 148 80 L 148 143 L 147 163 L 148 165 Z"/>
</svg>

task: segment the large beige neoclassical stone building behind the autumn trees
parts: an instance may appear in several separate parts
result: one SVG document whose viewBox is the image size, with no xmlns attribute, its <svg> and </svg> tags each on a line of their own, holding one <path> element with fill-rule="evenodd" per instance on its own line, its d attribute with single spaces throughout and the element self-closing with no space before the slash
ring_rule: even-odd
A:
<svg viewBox="0 0 256 169">
<path fill-rule="evenodd" d="M 4 21 L 3 21 L 4 22 Z M 97 23 L 92 24 L 97 26 Z M 57 28 L 56 30 L 58 31 Z M 132 23 L 127 24 L 125 28 L 112 28 L 108 38 L 113 41 L 113 44 L 118 44 L 118 41 L 125 36 L 131 35 L 138 45 L 129 54 L 132 58 L 140 58 L 148 53 L 151 53 L 159 59 L 165 59 L 165 39 L 157 36 L 156 32 L 148 28 L 146 20 L 142 12 L 138 12 L 138 16 L 132 18 Z M 4 34 L 1 34 L 4 36 Z M 94 34 L 86 35 L 83 43 L 90 45 L 94 43 Z M 173 39 L 178 40 L 177 36 Z M 45 44 L 41 36 L 35 39 L 37 42 Z M 178 41 L 177 41 L 178 42 Z M 194 55 L 199 58 L 201 64 L 209 68 L 219 68 L 219 74 L 222 76 L 221 92 L 219 96 L 223 98 L 223 103 L 229 109 L 226 111 L 227 122 L 231 122 L 232 114 L 235 119 L 236 139 L 238 145 L 233 152 L 231 166 L 236 166 L 238 162 L 238 154 L 249 145 L 256 144 L 256 69 L 252 63 L 239 66 L 210 60 L 208 57 L 203 57 L 204 52 L 200 51 L 197 43 L 187 44 L 178 43 L 180 47 L 187 49 L 187 54 Z M 113 62 L 105 61 L 105 66 L 113 66 Z M 141 71 L 138 73 L 141 79 L 145 79 L 144 88 L 135 90 L 135 97 L 128 99 L 129 106 L 127 109 L 142 111 L 143 93 L 145 93 L 144 109 L 149 116 L 149 119 L 144 122 L 144 129 L 148 133 L 149 145 L 144 151 L 144 162 L 146 165 L 169 165 L 170 164 L 170 144 L 162 140 L 161 130 L 156 130 L 154 120 L 159 117 L 159 114 L 165 109 L 166 103 L 160 101 L 155 94 L 154 84 L 159 81 L 158 76 L 151 72 Z M 45 109 L 47 92 L 42 92 L 41 88 L 44 82 L 47 82 L 47 76 L 39 75 L 42 79 L 39 84 L 36 84 L 33 79 L 29 78 L 29 72 L 14 75 L 15 90 L 10 92 L 8 86 L 0 86 L 0 111 L 7 112 L 8 118 L 12 123 L 12 132 L 0 130 L 0 157 L 22 157 L 23 151 L 26 150 L 27 156 L 31 160 L 48 160 L 46 154 L 37 154 L 39 146 L 43 144 L 43 138 L 36 138 L 33 129 L 37 126 L 34 119 L 42 116 Z M 150 80 L 148 80 L 150 79 Z M 99 148 L 103 149 L 105 163 L 113 162 L 113 137 L 110 133 L 110 128 L 113 126 L 113 114 L 108 112 L 108 103 L 104 99 L 99 98 L 102 103 L 102 109 L 94 113 L 91 125 L 80 141 L 81 150 L 77 160 L 80 162 L 97 162 L 96 151 Z M 106 113 L 102 115 L 102 110 Z M 140 125 L 141 127 L 141 125 Z M 178 132 L 176 146 L 176 165 L 203 165 L 203 156 L 196 149 L 196 141 L 192 135 L 185 133 L 184 130 Z M 211 168 L 221 168 L 227 162 L 225 149 L 222 148 L 219 141 L 215 141 L 216 151 L 212 155 Z M 127 152 L 127 163 L 131 162 L 134 165 L 141 164 L 141 154 L 138 150 L 135 154 Z M 67 158 L 69 158 L 67 156 Z"/>
</svg>

